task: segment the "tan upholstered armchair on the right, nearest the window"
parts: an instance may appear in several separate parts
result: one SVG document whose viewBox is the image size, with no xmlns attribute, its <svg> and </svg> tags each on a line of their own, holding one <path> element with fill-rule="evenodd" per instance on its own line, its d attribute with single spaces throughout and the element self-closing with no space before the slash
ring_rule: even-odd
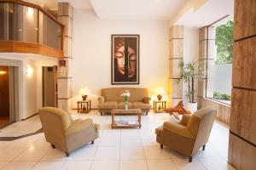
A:
<svg viewBox="0 0 256 170">
<path fill-rule="evenodd" d="M 216 111 L 210 107 L 195 111 L 191 116 L 183 115 L 180 122 L 164 122 L 163 126 L 155 129 L 156 141 L 189 157 L 202 147 L 205 150 L 208 142 Z"/>
</svg>

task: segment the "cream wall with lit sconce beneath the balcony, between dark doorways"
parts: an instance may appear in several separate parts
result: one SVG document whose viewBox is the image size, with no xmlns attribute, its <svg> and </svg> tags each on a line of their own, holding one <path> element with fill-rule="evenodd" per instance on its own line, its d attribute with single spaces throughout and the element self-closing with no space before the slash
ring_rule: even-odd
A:
<svg viewBox="0 0 256 170">
<path fill-rule="evenodd" d="M 20 119 L 37 113 L 42 107 L 42 66 L 57 65 L 56 59 L 39 58 L 38 55 L 33 54 L 29 57 L 1 54 L 0 65 L 19 68 Z M 27 72 L 27 68 L 32 69 L 32 74 Z"/>
</svg>

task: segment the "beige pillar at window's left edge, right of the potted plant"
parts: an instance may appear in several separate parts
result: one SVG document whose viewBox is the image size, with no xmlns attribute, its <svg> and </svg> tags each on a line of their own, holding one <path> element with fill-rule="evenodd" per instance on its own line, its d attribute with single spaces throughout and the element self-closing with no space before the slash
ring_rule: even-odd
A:
<svg viewBox="0 0 256 170">
<path fill-rule="evenodd" d="M 198 80 L 197 102 L 198 108 L 202 106 L 202 99 L 213 97 L 213 93 L 207 92 L 207 75 L 210 65 L 214 65 L 215 57 L 215 27 L 205 26 L 199 30 L 199 59 L 204 62 L 206 77 Z"/>
</svg>

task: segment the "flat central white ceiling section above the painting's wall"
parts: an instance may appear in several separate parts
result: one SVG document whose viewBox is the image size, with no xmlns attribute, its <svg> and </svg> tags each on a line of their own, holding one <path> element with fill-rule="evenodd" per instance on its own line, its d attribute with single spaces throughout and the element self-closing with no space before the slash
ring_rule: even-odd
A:
<svg viewBox="0 0 256 170">
<path fill-rule="evenodd" d="M 98 17 L 110 20 L 170 20 L 187 0 L 90 0 Z"/>
</svg>

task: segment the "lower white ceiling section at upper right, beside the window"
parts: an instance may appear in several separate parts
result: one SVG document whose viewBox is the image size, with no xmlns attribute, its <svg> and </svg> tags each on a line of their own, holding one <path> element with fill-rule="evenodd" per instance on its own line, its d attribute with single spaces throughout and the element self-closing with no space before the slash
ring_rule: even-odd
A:
<svg viewBox="0 0 256 170">
<path fill-rule="evenodd" d="M 191 6 L 183 15 L 171 23 L 180 26 L 209 26 L 224 16 L 234 16 L 234 0 L 207 0 L 201 8 Z"/>
</svg>

